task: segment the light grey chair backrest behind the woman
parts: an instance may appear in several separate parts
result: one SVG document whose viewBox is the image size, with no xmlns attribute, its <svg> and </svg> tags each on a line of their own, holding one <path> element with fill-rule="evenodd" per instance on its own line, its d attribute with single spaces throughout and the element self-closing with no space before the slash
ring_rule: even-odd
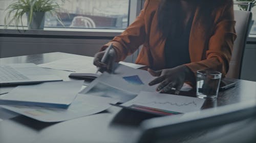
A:
<svg viewBox="0 0 256 143">
<path fill-rule="evenodd" d="M 240 79 L 244 48 L 249 34 L 251 16 L 252 14 L 249 11 L 234 11 L 234 20 L 237 21 L 235 26 L 237 39 L 234 41 L 232 57 L 229 62 L 229 70 L 226 75 L 229 78 Z"/>
</svg>

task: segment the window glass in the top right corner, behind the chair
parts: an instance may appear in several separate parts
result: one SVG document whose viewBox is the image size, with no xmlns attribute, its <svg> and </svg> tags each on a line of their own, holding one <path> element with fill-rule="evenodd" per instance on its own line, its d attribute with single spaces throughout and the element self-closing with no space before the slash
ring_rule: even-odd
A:
<svg viewBox="0 0 256 143">
<path fill-rule="evenodd" d="M 242 1 L 234 1 L 234 2 L 242 2 Z M 251 0 L 251 2 L 255 3 L 255 0 Z M 246 10 L 247 6 L 239 6 L 239 5 L 234 5 L 234 10 Z M 254 6 L 252 6 L 251 9 L 252 12 L 252 22 L 251 22 L 251 31 L 250 34 L 255 34 L 256 35 L 256 6 L 254 4 Z"/>
</svg>

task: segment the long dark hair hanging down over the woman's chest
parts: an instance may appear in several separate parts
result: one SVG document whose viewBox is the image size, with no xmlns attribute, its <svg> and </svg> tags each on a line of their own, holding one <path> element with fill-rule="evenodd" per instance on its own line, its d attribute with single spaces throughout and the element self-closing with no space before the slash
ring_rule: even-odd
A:
<svg viewBox="0 0 256 143">
<path fill-rule="evenodd" d="M 182 25 L 182 13 L 181 0 L 162 0 L 158 10 L 158 28 L 162 32 L 163 36 L 167 37 L 171 33 L 176 34 L 176 30 L 180 29 Z M 205 27 L 205 34 L 211 33 L 211 27 L 214 23 L 214 11 L 219 6 L 226 3 L 228 0 L 188 0 L 193 1 L 193 4 L 199 7 L 200 17 L 196 19 Z"/>
</svg>

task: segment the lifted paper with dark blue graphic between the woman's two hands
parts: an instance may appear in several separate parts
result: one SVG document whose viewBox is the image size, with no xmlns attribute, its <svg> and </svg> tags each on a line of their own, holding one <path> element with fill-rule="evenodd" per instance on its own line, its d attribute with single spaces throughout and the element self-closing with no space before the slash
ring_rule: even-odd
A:
<svg viewBox="0 0 256 143">
<path fill-rule="evenodd" d="M 141 91 L 156 93 L 158 84 L 154 86 L 148 85 L 156 77 L 147 71 L 133 69 L 120 64 L 115 66 L 113 74 L 104 72 L 80 93 L 117 98 L 120 103 L 135 98 Z M 189 91 L 191 89 L 188 84 L 184 83 L 181 91 Z"/>
</svg>

